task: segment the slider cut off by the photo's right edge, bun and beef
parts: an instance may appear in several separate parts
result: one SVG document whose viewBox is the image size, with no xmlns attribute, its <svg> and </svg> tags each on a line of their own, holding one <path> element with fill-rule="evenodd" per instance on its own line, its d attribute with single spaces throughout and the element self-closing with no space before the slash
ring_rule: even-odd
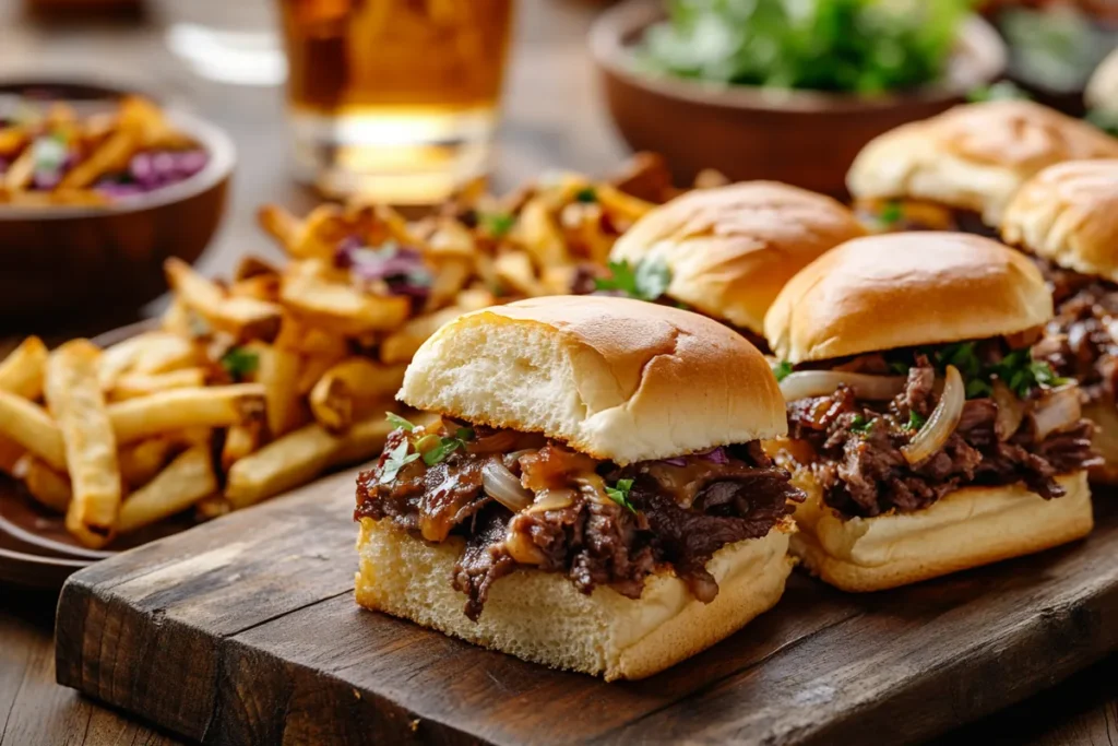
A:
<svg viewBox="0 0 1118 746">
<path fill-rule="evenodd" d="M 1106 460 L 1098 482 L 1118 482 L 1118 160 L 1070 161 L 1041 171 L 1005 210 L 1002 236 L 1033 254 L 1055 304 L 1033 357 L 1079 381 L 1083 414 Z"/>
</svg>

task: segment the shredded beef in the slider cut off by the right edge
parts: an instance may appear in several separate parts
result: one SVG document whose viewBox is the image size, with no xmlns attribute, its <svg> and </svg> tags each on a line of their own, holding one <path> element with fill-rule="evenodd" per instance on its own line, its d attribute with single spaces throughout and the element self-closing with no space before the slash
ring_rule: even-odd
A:
<svg viewBox="0 0 1118 746">
<path fill-rule="evenodd" d="M 1118 284 L 1034 258 L 1057 313 L 1033 356 L 1079 380 L 1084 402 L 1115 402 L 1118 389 Z"/>
</svg>

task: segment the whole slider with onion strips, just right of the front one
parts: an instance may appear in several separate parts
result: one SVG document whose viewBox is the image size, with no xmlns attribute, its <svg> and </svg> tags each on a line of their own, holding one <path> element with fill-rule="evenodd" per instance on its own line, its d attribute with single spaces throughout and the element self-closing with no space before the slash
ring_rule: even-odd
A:
<svg viewBox="0 0 1118 746">
<path fill-rule="evenodd" d="M 765 331 L 788 436 L 767 447 L 807 493 L 811 573 L 878 591 L 1091 530 L 1092 425 L 1029 353 L 1051 318 L 1032 262 L 968 234 L 859 238 L 785 286 Z"/>
</svg>

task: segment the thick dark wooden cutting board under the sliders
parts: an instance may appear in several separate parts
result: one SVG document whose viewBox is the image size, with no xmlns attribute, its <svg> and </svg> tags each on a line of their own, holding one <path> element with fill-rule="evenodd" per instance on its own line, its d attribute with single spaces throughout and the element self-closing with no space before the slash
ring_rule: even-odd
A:
<svg viewBox="0 0 1118 746">
<path fill-rule="evenodd" d="M 919 586 L 796 574 L 731 639 L 606 684 L 359 610 L 352 494 L 338 474 L 72 576 L 58 681 L 219 744 L 892 743 L 1118 646 L 1118 498 L 1086 541 Z"/>
</svg>

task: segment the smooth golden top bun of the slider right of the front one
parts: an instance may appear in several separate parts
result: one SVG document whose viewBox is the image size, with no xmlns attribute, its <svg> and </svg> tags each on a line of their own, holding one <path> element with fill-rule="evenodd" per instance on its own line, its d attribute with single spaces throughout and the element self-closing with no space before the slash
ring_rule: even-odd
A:
<svg viewBox="0 0 1118 746">
<path fill-rule="evenodd" d="M 961 233 L 856 238 L 784 286 L 765 336 L 793 363 L 916 344 L 984 339 L 1052 318 L 1032 261 Z"/>
</svg>

